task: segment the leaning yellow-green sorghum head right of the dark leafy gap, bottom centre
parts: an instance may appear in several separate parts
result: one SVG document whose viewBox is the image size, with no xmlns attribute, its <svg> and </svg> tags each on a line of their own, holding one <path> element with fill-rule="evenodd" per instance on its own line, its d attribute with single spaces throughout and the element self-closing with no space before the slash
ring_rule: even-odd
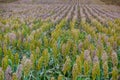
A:
<svg viewBox="0 0 120 80">
<path fill-rule="evenodd" d="M 66 61 L 65 64 L 63 65 L 62 71 L 64 73 L 64 75 L 66 74 L 67 71 L 69 71 L 71 69 L 71 60 L 70 57 L 67 56 L 66 57 Z"/>
</svg>

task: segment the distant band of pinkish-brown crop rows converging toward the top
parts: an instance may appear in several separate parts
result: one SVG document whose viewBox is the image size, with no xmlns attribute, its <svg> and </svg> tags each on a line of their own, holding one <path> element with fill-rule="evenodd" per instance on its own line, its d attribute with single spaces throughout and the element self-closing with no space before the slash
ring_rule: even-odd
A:
<svg viewBox="0 0 120 80">
<path fill-rule="evenodd" d="M 6 7 L 5 7 L 6 6 Z M 81 4 L 49 4 L 49 5 L 5 5 L 1 17 L 9 18 L 16 17 L 21 19 L 43 19 L 59 22 L 62 18 L 67 20 L 77 19 L 91 21 L 97 19 L 101 23 L 106 23 L 107 20 L 119 18 L 119 14 L 112 14 L 110 11 L 103 10 L 99 5 L 81 5 Z"/>
</svg>

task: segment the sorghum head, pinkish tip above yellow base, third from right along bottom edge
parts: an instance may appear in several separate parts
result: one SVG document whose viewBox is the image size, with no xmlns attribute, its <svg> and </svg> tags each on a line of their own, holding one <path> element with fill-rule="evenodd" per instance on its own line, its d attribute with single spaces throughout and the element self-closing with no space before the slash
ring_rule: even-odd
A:
<svg viewBox="0 0 120 80">
<path fill-rule="evenodd" d="M 95 80 L 97 76 L 100 76 L 100 66 L 98 57 L 95 56 L 93 59 L 92 79 Z"/>
</svg>

